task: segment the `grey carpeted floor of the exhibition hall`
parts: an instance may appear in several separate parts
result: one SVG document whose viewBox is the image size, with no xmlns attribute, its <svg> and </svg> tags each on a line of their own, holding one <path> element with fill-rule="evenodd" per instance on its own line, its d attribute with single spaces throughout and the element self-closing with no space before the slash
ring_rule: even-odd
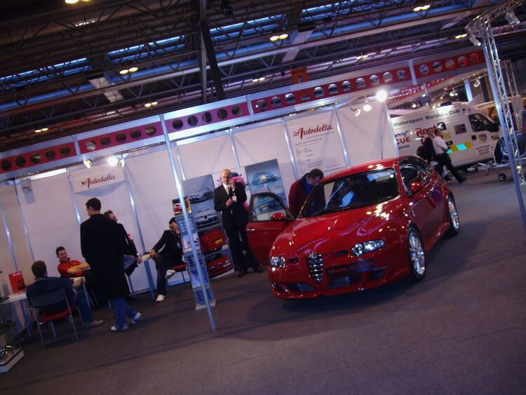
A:
<svg viewBox="0 0 526 395">
<path fill-rule="evenodd" d="M 428 255 L 426 279 L 282 301 L 267 274 L 213 282 L 217 331 L 190 287 L 139 295 L 143 321 L 48 348 L 38 333 L 0 375 L 7 394 L 519 394 L 526 388 L 526 232 L 512 182 L 450 183 L 461 233 Z M 522 189 L 526 193 L 526 189 Z"/>
</svg>

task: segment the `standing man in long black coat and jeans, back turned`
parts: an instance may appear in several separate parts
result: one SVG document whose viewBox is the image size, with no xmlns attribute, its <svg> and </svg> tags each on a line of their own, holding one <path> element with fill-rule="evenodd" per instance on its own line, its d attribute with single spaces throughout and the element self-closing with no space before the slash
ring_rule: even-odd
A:
<svg viewBox="0 0 526 395">
<path fill-rule="evenodd" d="M 116 324 L 112 326 L 112 330 L 126 330 L 126 317 L 135 324 L 141 314 L 124 300 L 128 295 L 128 283 L 124 276 L 119 227 L 115 221 L 100 213 L 100 206 L 97 198 L 86 202 L 89 218 L 81 223 L 81 252 L 91 267 L 101 297 L 109 300 L 114 309 Z"/>
</svg>

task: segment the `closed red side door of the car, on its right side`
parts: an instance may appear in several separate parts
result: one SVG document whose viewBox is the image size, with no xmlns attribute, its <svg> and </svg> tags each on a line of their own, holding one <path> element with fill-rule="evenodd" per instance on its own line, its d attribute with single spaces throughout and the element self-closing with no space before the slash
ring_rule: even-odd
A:
<svg viewBox="0 0 526 395">
<path fill-rule="evenodd" d="M 413 213 L 412 221 L 417 224 L 424 243 L 428 243 L 440 226 L 443 204 L 440 194 L 438 175 L 429 166 L 419 163 L 419 158 L 413 156 L 400 161 L 400 174 L 407 193 L 407 199 Z M 425 167 L 424 167 L 425 166 Z M 422 189 L 411 193 L 409 187 L 412 182 L 421 182 Z"/>
</svg>

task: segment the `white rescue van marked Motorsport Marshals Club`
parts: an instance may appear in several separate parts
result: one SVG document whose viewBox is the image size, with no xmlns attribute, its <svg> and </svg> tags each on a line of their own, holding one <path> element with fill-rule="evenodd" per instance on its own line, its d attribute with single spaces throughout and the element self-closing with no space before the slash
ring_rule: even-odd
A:
<svg viewBox="0 0 526 395">
<path fill-rule="evenodd" d="M 391 124 L 400 155 L 416 154 L 426 135 L 424 129 L 441 127 L 455 167 L 492 159 L 501 135 L 494 121 L 466 102 L 416 110 L 402 116 L 391 113 Z"/>
</svg>

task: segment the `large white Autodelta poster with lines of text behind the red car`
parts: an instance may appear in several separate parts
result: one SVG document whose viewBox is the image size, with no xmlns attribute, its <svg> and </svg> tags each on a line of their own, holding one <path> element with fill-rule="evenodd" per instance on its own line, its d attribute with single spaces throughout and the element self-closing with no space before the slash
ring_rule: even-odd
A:
<svg viewBox="0 0 526 395">
<path fill-rule="evenodd" d="M 332 172 L 346 167 L 334 111 L 299 116 L 286 126 L 298 176 L 313 168 Z"/>
</svg>

